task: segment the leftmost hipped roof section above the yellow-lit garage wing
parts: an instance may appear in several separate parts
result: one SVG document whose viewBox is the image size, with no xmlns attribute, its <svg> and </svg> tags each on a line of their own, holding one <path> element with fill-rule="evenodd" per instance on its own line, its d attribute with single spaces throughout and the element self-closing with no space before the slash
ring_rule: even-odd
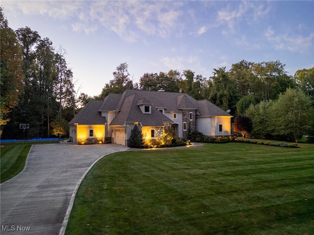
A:
<svg viewBox="0 0 314 235">
<path fill-rule="evenodd" d="M 78 112 L 78 114 L 69 122 L 73 125 L 78 123 L 79 125 L 97 125 L 105 124 L 107 122 L 105 117 L 102 117 L 98 111 L 104 100 L 90 100 L 85 107 Z"/>
</svg>

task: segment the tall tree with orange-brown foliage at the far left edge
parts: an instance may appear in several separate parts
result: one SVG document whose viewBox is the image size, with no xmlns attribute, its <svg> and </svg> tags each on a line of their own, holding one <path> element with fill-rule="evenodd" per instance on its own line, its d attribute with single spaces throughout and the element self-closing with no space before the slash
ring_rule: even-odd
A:
<svg viewBox="0 0 314 235">
<path fill-rule="evenodd" d="M 18 105 L 24 84 L 22 49 L 0 7 L 0 135 L 10 120 L 9 113 Z"/>
</svg>

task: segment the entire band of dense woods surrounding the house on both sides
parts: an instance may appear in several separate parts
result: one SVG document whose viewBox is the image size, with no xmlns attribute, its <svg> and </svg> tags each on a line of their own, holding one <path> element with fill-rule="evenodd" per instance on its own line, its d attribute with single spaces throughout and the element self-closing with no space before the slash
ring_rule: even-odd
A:
<svg viewBox="0 0 314 235">
<path fill-rule="evenodd" d="M 234 117 L 252 119 L 257 137 L 298 141 L 314 136 L 314 68 L 285 71 L 280 61 L 249 62 L 214 68 L 203 77 L 191 70 L 148 71 L 133 82 L 128 64 L 113 71 L 101 94 L 78 95 L 66 50 L 55 48 L 29 27 L 12 30 L 0 8 L 1 138 L 20 139 L 20 123 L 29 123 L 28 138 L 67 135 L 67 123 L 91 98 L 104 99 L 127 89 L 183 92 L 208 99 Z"/>
</svg>

